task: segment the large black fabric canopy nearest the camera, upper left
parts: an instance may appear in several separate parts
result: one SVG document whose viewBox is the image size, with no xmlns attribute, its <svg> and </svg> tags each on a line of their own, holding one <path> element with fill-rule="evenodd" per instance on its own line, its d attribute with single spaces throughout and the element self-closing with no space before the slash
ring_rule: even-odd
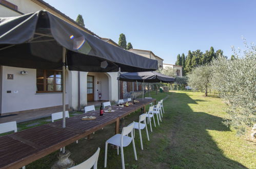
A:
<svg viewBox="0 0 256 169">
<path fill-rule="evenodd" d="M 154 71 L 157 61 L 115 47 L 47 12 L 0 17 L 0 65 L 61 69 L 66 48 L 69 70 Z"/>
</svg>

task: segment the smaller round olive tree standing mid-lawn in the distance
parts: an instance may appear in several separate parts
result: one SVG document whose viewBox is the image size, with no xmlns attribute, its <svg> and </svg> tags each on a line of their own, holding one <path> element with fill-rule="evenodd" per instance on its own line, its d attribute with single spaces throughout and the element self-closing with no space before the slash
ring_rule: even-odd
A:
<svg viewBox="0 0 256 169">
<path fill-rule="evenodd" d="M 205 96 L 208 95 L 211 81 L 211 66 L 199 66 L 194 68 L 188 75 L 188 85 L 192 90 L 205 91 Z"/>
</svg>

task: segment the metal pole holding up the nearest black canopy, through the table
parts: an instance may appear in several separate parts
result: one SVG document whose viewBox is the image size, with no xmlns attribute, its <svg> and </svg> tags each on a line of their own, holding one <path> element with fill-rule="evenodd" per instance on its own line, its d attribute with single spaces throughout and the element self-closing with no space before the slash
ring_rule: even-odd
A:
<svg viewBox="0 0 256 169">
<path fill-rule="evenodd" d="M 62 107 L 63 107 L 63 118 L 62 118 L 62 127 L 66 128 L 66 48 L 62 48 Z M 62 153 L 65 153 L 65 146 L 62 148 Z"/>
</svg>

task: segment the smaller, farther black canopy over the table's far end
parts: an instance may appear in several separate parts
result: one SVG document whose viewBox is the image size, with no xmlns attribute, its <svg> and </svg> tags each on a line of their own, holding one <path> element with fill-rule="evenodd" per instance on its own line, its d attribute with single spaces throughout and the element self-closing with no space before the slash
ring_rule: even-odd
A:
<svg viewBox="0 0 256 169">
<path fill-rule="evenodd" d="M 175 78 L 166 76 L 157 72 L 132 72 L 132 73 L 124 73 L 117 77 L 117 80 L 122 81 L 139 81 L 146 83 L 153 82 L 174 82 Z"/>
</svg>

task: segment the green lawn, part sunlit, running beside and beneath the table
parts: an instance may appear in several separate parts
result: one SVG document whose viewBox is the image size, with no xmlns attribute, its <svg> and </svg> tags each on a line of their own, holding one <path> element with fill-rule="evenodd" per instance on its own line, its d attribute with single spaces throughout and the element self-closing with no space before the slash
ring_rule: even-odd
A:
<svg viewBox="0 0 256 169">
<path fill-rule="evenodd" d="M 235 131 L 223 125 L 225 104 L 215 95 L 175 91 L 151 92 L 151 97 L 164 101 L 165 114 L 160 126 L 152 126 L 150 141 L 142 131 L 144 150 L 139 132 L 135 131 L 138 160 L 134 160 L 132 144 L 124 148 L 126 168 L 256 168 L 255 142 L 237 137 Z M 148 109 L 148 108 L 147 108 Z M 139 120 L 139 112 L 127 116 L 124 125 Z M 157 125 L 157 124 L 156 124 Z M 148 126 L 149 128 L 149 126 Z M 89 158 L 101 147 L 98 167 L 104 168 L 105 141 L 114 135 L 114 124 L 95 132 L 91 140 L 80 139 L 66 148 L 76 164 Z M 50 168 L 57 160 L 54 152 L 27 165 L 27 168 Z M 107 168 L 121 168 L 121 155 L 108 148 Z"/>
</svg>

